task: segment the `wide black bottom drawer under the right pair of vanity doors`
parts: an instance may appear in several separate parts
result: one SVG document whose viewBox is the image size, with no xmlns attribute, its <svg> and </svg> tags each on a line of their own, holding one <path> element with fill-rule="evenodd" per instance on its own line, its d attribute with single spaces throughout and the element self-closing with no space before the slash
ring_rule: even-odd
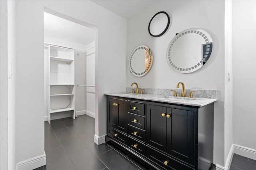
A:
<svg viewBox="0 0 256 170">
<path fill-rule="evenodd" d="M 178 162 L 150 147 L 146 147 L 146 150 L 146 157 L 166 170 L 194 170 L 194 168 L 190 168 L 189 166 L 186 166 L 185 164 L 182 164 L 181 162 Z"/>
</svg>

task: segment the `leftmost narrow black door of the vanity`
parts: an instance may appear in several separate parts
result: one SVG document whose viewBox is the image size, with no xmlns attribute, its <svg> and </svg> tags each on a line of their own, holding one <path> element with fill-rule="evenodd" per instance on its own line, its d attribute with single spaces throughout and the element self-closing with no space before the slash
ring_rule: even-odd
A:
<svg viewBox="0 0 256 170">
<path fill-rule="evenodd" d="M 117 107 L 116 99 L 108 98 L 108 125 L 112 127 L 116 127 L 116 117 L 117 117 Z"/>
</svg>

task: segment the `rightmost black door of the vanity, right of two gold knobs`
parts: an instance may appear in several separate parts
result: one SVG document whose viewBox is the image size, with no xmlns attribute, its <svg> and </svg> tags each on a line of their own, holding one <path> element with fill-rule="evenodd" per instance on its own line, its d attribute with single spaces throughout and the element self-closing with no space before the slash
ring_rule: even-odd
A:
<svg viewBox="0 0 256 170">
<path fill-rule="evenodd" d="M 167 152 L 194 165 L 194 111 L 167 108 Z"/>
</svg>

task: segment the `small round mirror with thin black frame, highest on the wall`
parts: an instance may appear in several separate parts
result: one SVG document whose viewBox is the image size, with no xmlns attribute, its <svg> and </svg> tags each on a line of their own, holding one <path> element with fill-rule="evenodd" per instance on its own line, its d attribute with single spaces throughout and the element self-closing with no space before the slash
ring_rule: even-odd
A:
<svg viewBox="0 0 256 170">
<path fill-rule="evenodd" d="M 170 25 L 170 17 L 164 12 L 156 13 L 148 24 L 148 32 L 153 37 L 160 37 L 163 35 Z"/>
</svg>

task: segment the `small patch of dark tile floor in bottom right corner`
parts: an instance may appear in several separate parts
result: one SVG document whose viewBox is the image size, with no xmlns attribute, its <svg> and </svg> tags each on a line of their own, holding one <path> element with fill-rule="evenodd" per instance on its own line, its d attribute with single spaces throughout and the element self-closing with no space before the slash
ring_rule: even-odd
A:
<svg viewBox="0 0 256 170">
<path fill-rule="evenodd" d="M 229 170 L 256 170 L 256 160 L 234 153 Z"/>
</svg>

